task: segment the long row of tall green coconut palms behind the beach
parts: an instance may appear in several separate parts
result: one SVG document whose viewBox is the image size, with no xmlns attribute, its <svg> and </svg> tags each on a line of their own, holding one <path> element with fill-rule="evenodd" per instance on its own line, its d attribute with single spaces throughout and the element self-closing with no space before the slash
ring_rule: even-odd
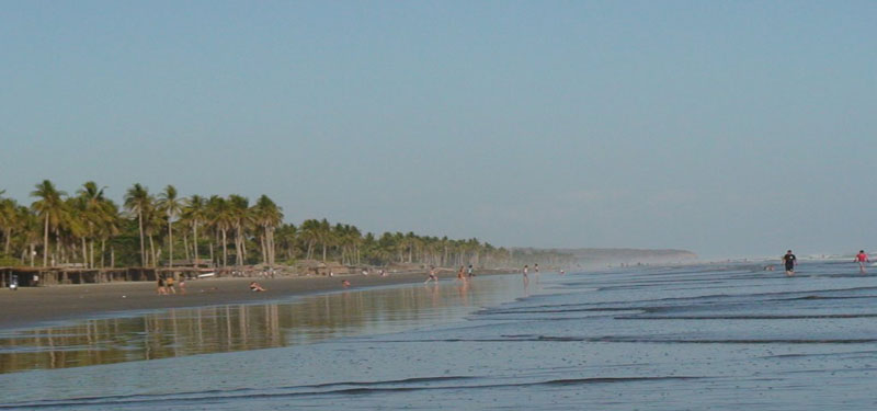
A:
<svg viewBox="0 0 877 411">
<path fill-rule="evenodd" d="M 349 224 L 306 219 L 284 222 L 267 195 L 181 197 L 173 185 L 158 194 L 137 183 L 116 204 L 105 187 L 86 182 L 75 193 L 48 180 L 31 192 L 30 206 L 0 191 L 0 265 L 173 267 L 185 260 L 216 266 L 292 265 L 297 260 L 345 265 L 419 264 L 509 267 L 542 262 L 571 265 L 573 256 L 551 251 L 497 248 L 478 239 L 363 233 Z"/>
</svg>

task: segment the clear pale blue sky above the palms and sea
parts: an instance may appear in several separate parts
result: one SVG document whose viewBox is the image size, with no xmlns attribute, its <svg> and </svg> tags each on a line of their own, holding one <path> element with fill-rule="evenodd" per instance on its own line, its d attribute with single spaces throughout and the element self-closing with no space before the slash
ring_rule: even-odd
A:
<svg viewBox="0 0 877 411">
<path fill-rule="evenodd" d="M 877 251 L 877 2 L 0 0 L 0 190 L 704 258 Z"/>
</svg>

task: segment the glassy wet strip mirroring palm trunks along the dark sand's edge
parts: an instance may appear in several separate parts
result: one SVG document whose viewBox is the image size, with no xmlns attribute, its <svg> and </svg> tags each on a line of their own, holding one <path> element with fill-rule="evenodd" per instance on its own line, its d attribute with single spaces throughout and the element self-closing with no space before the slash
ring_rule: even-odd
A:
<svg viewBox="0 0 877 411">
<path fill-rule="evenodd" d="M 170 309 L 0 333 L 0 373 L 246 351 L 400 331 L 514 297 L 483 278 L 308 296 L 289 302 Z M 481 293 L 479 293 L 479 289 Z"/>
</svg>

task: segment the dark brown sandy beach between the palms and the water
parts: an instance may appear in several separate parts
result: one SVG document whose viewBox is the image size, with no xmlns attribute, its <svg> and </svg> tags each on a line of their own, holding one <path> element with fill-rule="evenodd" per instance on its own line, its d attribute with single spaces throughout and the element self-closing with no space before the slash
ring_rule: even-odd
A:
<svg viewBox="0 0 877 411">
<path fill-rule="evenodd" d="M 514 274 L 513 271 L 482 271 L 477 276 Z M 124 316 L 135 311 L 171 308 L 194 308 L 236 304 L 258 304 L 291 297 L 360 290 L 387 285 L 417 284 L 426 279 L 426 272 L 379 275 L 304 276 L 281 278 L 221 277 L 186 282 L 186 294 L 158 295 L 155 282 L 118 282 L 77 284 L 52 287 L 0 289 L 0 331 L 39 327 L 57 321 L 88 319 L 98 316 Z M 456 274 L 440 272 L 440 279 L 455 281 Z M 344 288 L 341 281 L 351 283 Z M 250 282 L 266 288 L 254 293 Z"/>
</svg>

